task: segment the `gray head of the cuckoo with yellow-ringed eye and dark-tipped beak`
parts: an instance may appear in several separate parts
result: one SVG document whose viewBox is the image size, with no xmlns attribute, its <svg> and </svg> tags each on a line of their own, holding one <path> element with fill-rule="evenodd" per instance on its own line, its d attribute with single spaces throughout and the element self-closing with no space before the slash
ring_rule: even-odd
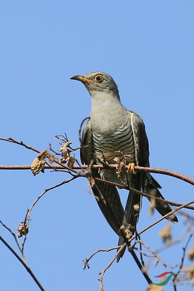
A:
<svg viewBox="0 0 194 291">
<path fill-rule="evenodd" d="M 97 92 L 113 93 L 119 98 L 119 91 L 113 78 L 103 72 L 92 72 L 84 76 L 73 76 L 70 79 L 81 81 L 88 89 L 90 95 Z"/>
</svg>

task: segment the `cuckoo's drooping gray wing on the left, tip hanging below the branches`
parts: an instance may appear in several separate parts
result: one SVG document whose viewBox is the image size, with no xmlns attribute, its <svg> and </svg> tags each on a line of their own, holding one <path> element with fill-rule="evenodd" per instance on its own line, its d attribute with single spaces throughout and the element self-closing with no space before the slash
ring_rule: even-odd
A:
<svg viewBox="0 0 194 291">
<path fill-rule="evenodd" d="M 92 129 L 90 120 L 86 123 L 81 139 L 81 162 L 82 164 L 89 165 L 94 159 L 94 150 L 92 148 Z M 88 147 L 87 147 L 88 146 Z M 95 162 L 94 162 L 95 164 Z M 100 175 L 96 169 L 92 170 L 92 175 L 95 178 L 100 178 Z M 104 217 L 108 221 L 113 230 L 119 234 L 119 228 L 122 225 L 124 217 L 124 209 L 122 207 L 120 196 L 115 186 L 96 181 L 94 185 L 91 185 L 94 196 L 97 203 L 104 214 Z"/>
</svg>

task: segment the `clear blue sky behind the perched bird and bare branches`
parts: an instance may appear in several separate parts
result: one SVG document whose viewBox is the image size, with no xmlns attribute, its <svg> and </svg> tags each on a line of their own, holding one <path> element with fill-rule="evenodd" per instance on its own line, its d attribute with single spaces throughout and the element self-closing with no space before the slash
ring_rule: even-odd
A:
<svg viewBox="0 0 194 291">
<path fill-rule="evenodd" d="M 151 166 L 192 178 L 193 30 L 191 0 L 1 1 L 1 137 L 22 140 L 38 150 L 52 143 L 57 150 L 53 138 L 66 132 L 73 146 L 79 146 L 79 125 L 89 115 L 91 100 L 83 84 L 70 77 L 102 71 L 114 78 L 122 104 L 142 116 Z M 1 164 L 31 164 L 35 157 L 25 148 L 0 142 Z M 15 232 L 35 198 L 67 179 L 48 170 L 35 177 L 31 171 L 1 171 L 0 175 L 0 219 Z M 191 185 L 154 177 L 166 199 L 193 200 Z M 79 178 L 45 194 L 32 211 L 26 259 L 47 291 L 98 290 L 98 273 L 114 255 L 114 251 L 97 254 L 83 272 L 85 257 L 118 241 L 87 191 L 87 181 Z M 121 191 L 123 200 L 127 195 Z M 148 207 L 143 199 L 138 230 L 160 217 L 158 213 L 149 217 Z M 158 232 L 166 224 L 161 222 L 142 239 L 153 249 L 161 246 Z M 182 229 L 179 218 L 179 224 L 173 225 L 174 238 Z M 15 248 L 10 234 L 3 228 L 0 233 Z M 181 247 L 161 256 L 175 265 Z M 26 286 L 29 291 L 39 290 L 1 243 L 0 254 L 2 291 L 26 291 Z M 153 267 L 153 262 L 149 271 L 154 280 L 165 270 L 161 263 Z M 105 291 L 145 290 L 147 285 L 127 252 L 104 280 Z M 171 290 L 170 286 L 164 290 Z"/>
</svg>

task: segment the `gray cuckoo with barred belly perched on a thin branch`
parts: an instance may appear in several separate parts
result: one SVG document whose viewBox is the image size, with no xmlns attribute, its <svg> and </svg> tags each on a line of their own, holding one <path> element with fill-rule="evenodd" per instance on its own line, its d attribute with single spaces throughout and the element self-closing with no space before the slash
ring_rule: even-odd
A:
<svg viewBox="0 0 194 291">
<path fill-rule="evenodd" d="M 73 76 L 71 79 L 81 81 L 92 98 L 90 117 L 81 138 L 82 164 L 89 165 L 92 161 L 94 164 L 102 164 L 102 161 L 115 164 L 115 157 L 124 157 L 126 164 L 129 164 L 127 174 L 123 171 L 118 176 L 116 169 L 103 169 L 100 173 L 92 169 L 93 177 L 117 184 L 124 182 L 138 191 L 164 199 L 159 191 L 161 186 L 150 173 L 134 172 L 134 166 L 149 167 L 149 144 L 145 125 L 137 113 L 127 110 L 121 104 L 118 87 L 113 78 L 103 72 L 92 72 L 84 76 Z M 124 243 L 122 231 L 128 234 L 127 237 L 131 237 L 136 230 L 141 197 L 129 191 L 124 210 L 117 188 L 95 181 L 91 183 L 92 191 L 104 217 L 120 236 L 120 246 Z M 168 204 L 157 199 L 154 207 L 162 216 L 172 211 Z M 167 219 L 178 222 L 175 214 Z M 124 251 L 125 248 L 119 253 L 117 261 Z"/>
</svg>

